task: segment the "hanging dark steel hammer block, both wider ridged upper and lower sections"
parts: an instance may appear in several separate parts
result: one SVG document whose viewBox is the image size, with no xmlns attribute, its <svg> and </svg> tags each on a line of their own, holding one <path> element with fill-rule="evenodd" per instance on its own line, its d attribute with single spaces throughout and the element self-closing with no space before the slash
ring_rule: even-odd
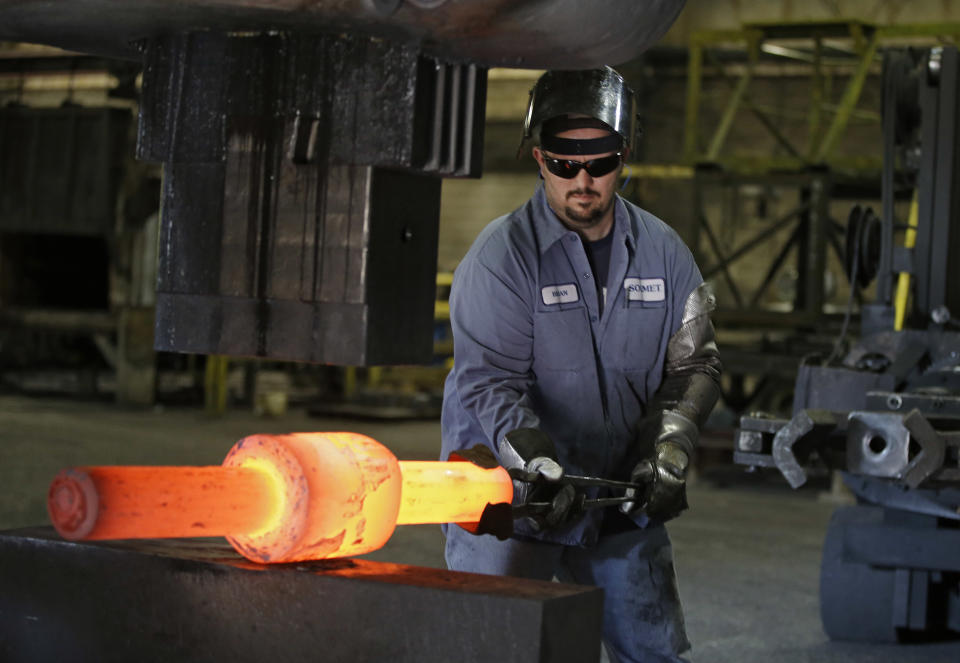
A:
<svg viewBox="0 0 960 663">
<path fill-rule="evenodd" d="M 144 47 L 138 155 L 164 165 L 156 348 L 430 360 L 440 180 L 478 175 L 486 73 L 367 37 Z"/>
</svg>

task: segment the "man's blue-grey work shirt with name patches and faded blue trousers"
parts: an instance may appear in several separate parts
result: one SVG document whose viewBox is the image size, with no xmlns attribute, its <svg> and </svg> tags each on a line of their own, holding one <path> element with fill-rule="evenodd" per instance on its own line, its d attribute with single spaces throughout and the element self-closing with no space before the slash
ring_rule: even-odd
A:
<svg viewBox="0 0 960 663">
<path fill-rule="evenodd" d="M 441 458 L 480 443 L 496 453 L 504 434 L 531 427 L 554 441 L 567 473 L 629 477 L 636 424 L 703 279 L 672 228 L 619 196 L 611 232 L 602 314 L 581 239 L 550 209 L 542 185 L 481 232 L 450 294 L 454 367 Z M 636 529 L 600 536 L 603 517 L 593 510 L 542 533 L 518 521 L 503 542 L 445 526 L 447 563 L 603 587 L 612 655 L 681 660 L 689 643 L 666 530 L 639 515 Z"/>
</svg>

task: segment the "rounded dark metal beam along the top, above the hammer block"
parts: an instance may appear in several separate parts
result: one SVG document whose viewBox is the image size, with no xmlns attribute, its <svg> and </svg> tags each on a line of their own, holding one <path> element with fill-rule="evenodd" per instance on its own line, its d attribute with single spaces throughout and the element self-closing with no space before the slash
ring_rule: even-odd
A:
<svg viewBox="0 0 960 663">
<path fill-rule="evenodd" d="M 354 32 L 488 66 L 625 62 L 667 31 L 684 0 L 0 0 L 0 39 L 135 57 L 161 33 Z"/>
</svg>

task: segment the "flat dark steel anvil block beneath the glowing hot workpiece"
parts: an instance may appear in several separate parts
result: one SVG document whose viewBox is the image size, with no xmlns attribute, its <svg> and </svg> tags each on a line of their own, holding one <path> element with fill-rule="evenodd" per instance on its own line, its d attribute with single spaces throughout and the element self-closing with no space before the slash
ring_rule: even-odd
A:
<svg viewBox="0 0 960 663">
<path fill-rule="evenodd" d="M 213 540 L 0 532 L 0 660 L 597 661 L 602 591 Z"/>
</svg>

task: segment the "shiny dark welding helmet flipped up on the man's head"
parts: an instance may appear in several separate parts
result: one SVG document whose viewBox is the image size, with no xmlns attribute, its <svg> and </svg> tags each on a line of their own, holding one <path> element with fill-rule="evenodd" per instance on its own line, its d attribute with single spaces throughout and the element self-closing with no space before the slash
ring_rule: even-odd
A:
<svg viewBox="0 0 960 663">
<path fill-rule="evenodd" d="M 623 76 L 610 67 L 585 69 L 582 71 L 548 71 L 543 74 L 530 90 L 530 103 L 523 122 L 523 139 L 520 149 L 528 140 L 533 140 L 544 149 L 544 138 L 549 133 L 543 131 L 545 123 L 561 117 L 593 118 L 602 124 L 580 124 L 579 126 L 601 126 L 612 132 L 603 145 L 593 143 L 580 149 L 592 152 L 562 152 L 566 154 L 599 154 L 611 152 L 623 147 L 633 147 L 640 133 L 637 123 L 637 101 L 633 90 L 623 80 Z M 548 124 L 549 127 L 549 124 Z M 569 122 L 557 129 L 575 128 Z M 562 140 L 562 139 L 561 139 Z M 588 141 L 582 141 L 587 143 Z M 617 144 L 614 147 L 611 145 Z M 576 146 L 567 145 L 566 149 Z M 598 147 L 609 149 L 598 149 Z M 554 151 L 554 150 L 551 150 Z"/>
</svg>

